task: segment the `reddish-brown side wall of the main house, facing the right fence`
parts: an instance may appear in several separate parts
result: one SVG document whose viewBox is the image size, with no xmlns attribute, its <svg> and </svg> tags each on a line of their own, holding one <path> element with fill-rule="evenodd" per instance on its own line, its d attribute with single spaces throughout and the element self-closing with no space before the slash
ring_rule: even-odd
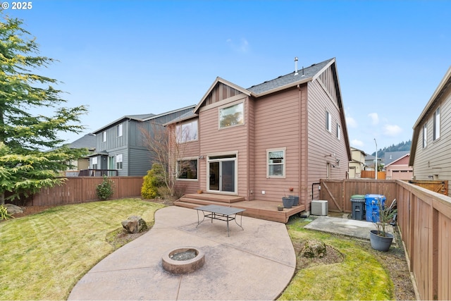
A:
<svg viewBox="0 0 451 301">
<path fill-rule="evenodd" d="M 345 137 L 342 133 L 343 125 L 340 119 L 340 108 L 330 93 L 324 91 L 324 85 L 314 80 L 309 82 L 308 110 L 308 158 L 307 158 L 307 186 L 327 178 L 327 164 L 330 164 L 330 179 L 347 178 L 349 162 Z M 327 85 L 326 85 L 327 87 Z M 332 116 L 332 126 L 329 132 L 326 128 L 326 111 Z M 337 124 L 340 125 L 340 140 L 336 135 Z M 336 159 L 340 160 L 337 164 Z M 333 167 L 335 165 L 335 167 Z M 311 196 L 311 190 L 309 191 Z M 310 199 L 311 200 L 311 199 Z M 309 201 L 310 201 L 309 200 Z"/>
</svg>

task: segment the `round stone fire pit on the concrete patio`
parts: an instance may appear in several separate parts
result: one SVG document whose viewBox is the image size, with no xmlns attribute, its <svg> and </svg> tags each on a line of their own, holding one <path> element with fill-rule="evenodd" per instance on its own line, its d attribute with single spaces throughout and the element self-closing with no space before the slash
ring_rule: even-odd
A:
<svg viewBox="0 0 451 301">
<path fill-rule="evenodd" d="M 187 274 L 204 266 L 205 254 L 195 247 L 178 247 L 161 258 L 163 269 L 172 274 Z"/>
</svg>

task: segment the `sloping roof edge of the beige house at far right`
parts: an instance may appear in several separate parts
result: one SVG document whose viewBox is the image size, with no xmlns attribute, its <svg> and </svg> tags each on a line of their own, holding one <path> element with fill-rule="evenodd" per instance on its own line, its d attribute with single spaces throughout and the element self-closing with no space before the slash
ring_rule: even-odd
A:
<svg viewBox="0 0 451 301">
<path fill-rule="evenodd" d="M 428 103 L 421 112 L 419 118 L 416 119 L 413 128 L 414 133 L 412 134 L 412 146 L 410 147 L 409 166 L 414 166 L 416 145 L 419 140 L 421 125 L 424 121 L 424 118 L 428 118 L 429 114 L 431 113 L 431 110 L 438 102 L 438 99 L 440 99 L 440 97 L 442 97 L 442 95 L 450 88 L 450 85 L 451 85 L 451 67 L 448 68 L 445 76 L 440 81 L 440 84 L 438 84 L 437 89 L 435 89 L 435 92 L 433 92 L 431 99 L 429 99 Z"/>
</svg>

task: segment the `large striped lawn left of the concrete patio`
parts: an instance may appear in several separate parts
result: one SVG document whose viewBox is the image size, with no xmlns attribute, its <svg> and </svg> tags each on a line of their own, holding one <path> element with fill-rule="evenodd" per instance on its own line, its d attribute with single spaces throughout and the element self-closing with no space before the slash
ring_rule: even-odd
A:
<svg viewBox="0 0 451 301">
<path fill-rule="evenodd" d="M 118 199 L 51 208 L 0 223 L 0 299 L 66 300 L 77 281 L 118 246 L 107 236 L 139 215 L 154 223 L 163 205 Z"/>
</svg>

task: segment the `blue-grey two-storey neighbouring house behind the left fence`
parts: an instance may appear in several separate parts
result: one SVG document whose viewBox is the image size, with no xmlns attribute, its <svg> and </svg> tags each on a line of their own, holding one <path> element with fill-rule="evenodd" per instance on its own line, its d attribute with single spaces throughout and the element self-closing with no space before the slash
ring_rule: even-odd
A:
<svg viewBox="0 0 451 301">
<path fill-rule="evenodd" d="M 187 106 L 158 115 L 127 115 L 94 131 L 96 152 L 89 155 L 89 170 L 80 176 L 145 176 L 153 162 L 142 131 L 152 134 L 163 123 L 193 108 Z"/>
</svg>

